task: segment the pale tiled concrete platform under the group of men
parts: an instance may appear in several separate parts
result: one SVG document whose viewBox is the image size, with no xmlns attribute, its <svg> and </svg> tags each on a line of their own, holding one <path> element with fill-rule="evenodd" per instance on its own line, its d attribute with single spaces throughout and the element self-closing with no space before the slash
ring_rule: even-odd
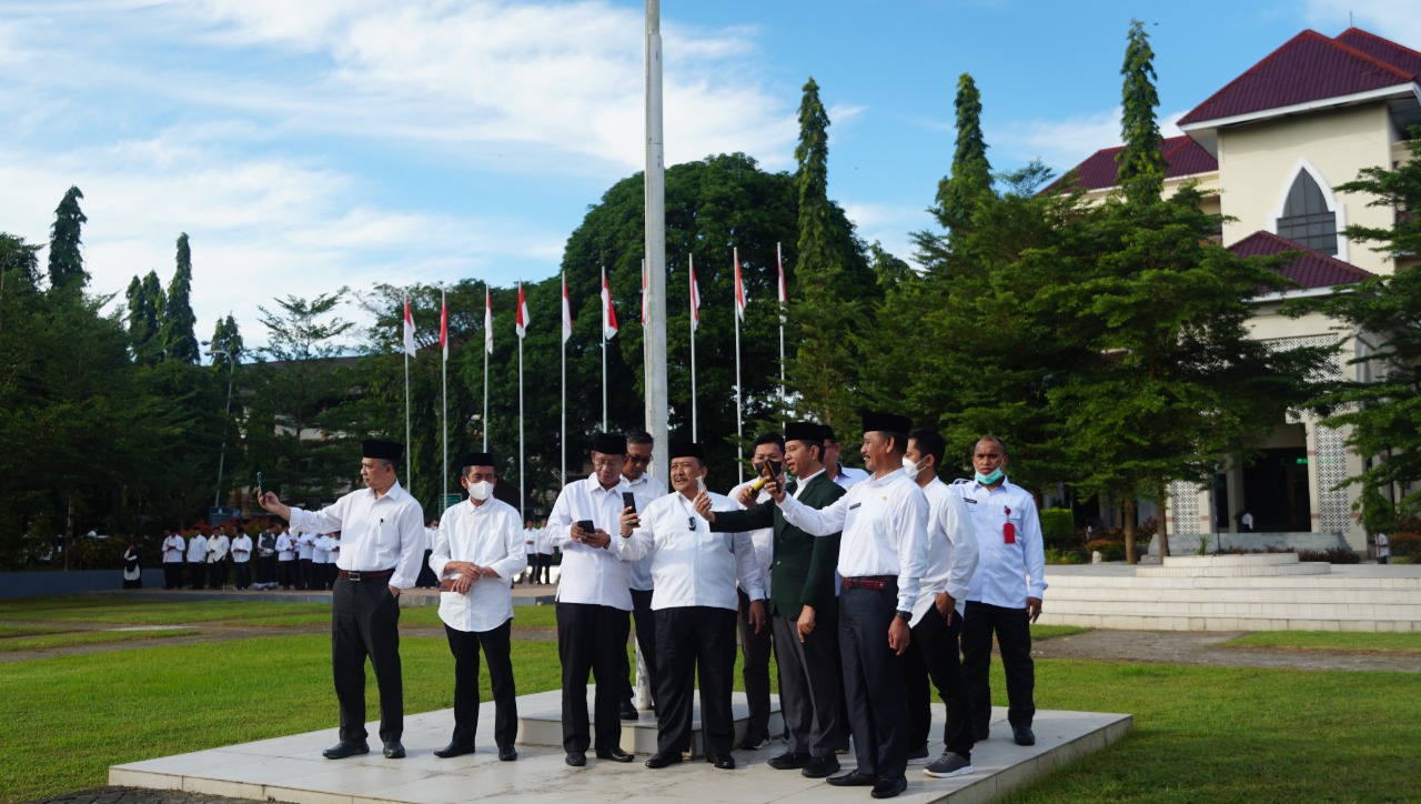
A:
<svg viewBox="0 0 1421 804">
<path fill-rule="evenodd" d="M 737 696 L 737 712 L 745 710 L 745 697 Z M 520 715 L 529 720 L 520 724 L 520 743 L 530 726 L 543 717 L 539 712 L 557 712 L 558 692 L 544 692 L 519 697 Z M 934 709 L 934 736 L 942 732 L 944 709 Z M 108 771 L 109 784 L 183 790 L 209 795 L 233 795 L 267 801 L 300 804 L 367 804 L 375 801 L 408 801 L 418 804 L 455 804 L 462 801 L 549 801 L 611 803 L 611 801 L 725 801 L 725 803 L 820 803 L 867 801 L 861 788 L 836 788 L 810 780 L 797 771 L 777 771 L 766 761 L 784 750 L 777 740 L 759 751 L 735 751 L 739 767 L 716 770 L 699 760 L 688 760 L 664 770 L 648 770 L 641 761 L 620 764 L 588 757 L 587 767 L 567 767 L 561 747 L 519 746 L 519 759 L 500 763 L 493 749 L 493 706 L 480 709 L 480 747 L 476 753 L 450 760 L 436 759 L 432 751 L 449 740 L 453 712 L 426 712 L 405 717 L 404 760 L 379 756 L 378 740 L 374 753 L 362 757 L 331 761 L 321 759 L 321 750 L 335 743 L 335 730 L 325 729 L 273 740 L 243 743 L 223 749 L 161 757 L 114 766 Z M 655 723 L 649 715 L 630 726 L 638 732 L 637 749 L 642 749 L 641 732 Z M 1097 751 L 1130 732 L 1128 715 L 1100 715 L 1091 712 L 1036 713 L 1036 746 L 1012 743 L 1006 724 L 1006 710 L 992 713 L 993 737 L 979 743 L 972 751 L 976 773 L 956 778 L 931 778 L 922 774 L 922 763 L 908 766 L 908 791 L 898 801 L 925 804 L 951 801 L 968 804 L 992 801 L 1022 784 L 1050 773 L 1080 756 Z M 378 723 L 371 723 L 371 736 Z M 529 733 L 530 737 L 537 739 Z M 632 746 L 624 737 L 622 747 Z M 941 743 L 929 746 L 932 757 L 942 751 Z M 638 757 L 639 760 L 641 757 Z M 844 768 L 853 767 L 853 754 L 841 756 Z"/>
</svg>

